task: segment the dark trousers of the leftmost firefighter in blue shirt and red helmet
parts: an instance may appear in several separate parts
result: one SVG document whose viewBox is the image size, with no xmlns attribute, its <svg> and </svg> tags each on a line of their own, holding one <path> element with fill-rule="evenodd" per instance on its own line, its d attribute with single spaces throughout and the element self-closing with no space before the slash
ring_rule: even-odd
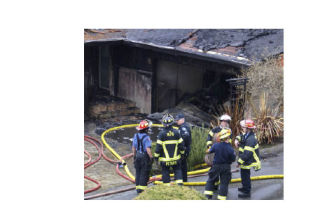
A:
<svg viewBox="0 0 320 214">
<path fill-rule="evenodd" d="M 136 168 L 136 189 L 137 192 L 140 193 L 147 188 L 152 167 L 148 154 L 137 155 L 134 161 L 134 167 Z"/>
</svg>

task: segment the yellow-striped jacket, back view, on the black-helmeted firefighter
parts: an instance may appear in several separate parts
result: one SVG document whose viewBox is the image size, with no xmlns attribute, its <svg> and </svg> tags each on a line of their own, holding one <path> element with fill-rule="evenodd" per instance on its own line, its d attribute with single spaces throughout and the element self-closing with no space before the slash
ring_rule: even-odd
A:
<svg viewBox="0 0 320 214">
<path fill-rule="evenodd" d="M 175 162 L 185 153 L 183 140 L 178 130 L 172 126 L 165 127 L 157 137 L 155 158 L 161 162 Z M 174 163 L 173 163 L 174 164 Z"/>
</svg>

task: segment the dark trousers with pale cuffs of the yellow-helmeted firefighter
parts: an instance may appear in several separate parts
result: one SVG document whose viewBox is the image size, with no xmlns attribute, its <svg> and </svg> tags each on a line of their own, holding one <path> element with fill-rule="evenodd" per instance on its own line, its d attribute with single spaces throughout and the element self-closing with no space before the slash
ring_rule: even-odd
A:
<svg viewBox="0 0 320 214">
<path fill-rule="evenodd" d="M 214 164 L 209 171 L 209 179 L 207 180 L 205 192 L 206 196 L 212 197 L 213 192 L 218 188 L 218 180 L 220 179 L 220 188 L 218 199 L 226 199 L 228 194 L 228 185 L 231 181 L 230 164 Z"/>
</svg>

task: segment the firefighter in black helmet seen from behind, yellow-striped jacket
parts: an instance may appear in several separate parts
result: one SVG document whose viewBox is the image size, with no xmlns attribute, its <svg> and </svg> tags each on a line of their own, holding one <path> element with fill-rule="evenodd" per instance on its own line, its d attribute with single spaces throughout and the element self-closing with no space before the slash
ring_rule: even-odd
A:
<svg viewBox="0 0 320 214">
<path fill-rule="evenodd" d="M 165 114 L 162 118 L 163 130 L 157 137 L 157 145 L 154 153 L 156 161 L 162 167 L 162 181 L 165 185 L 170 185 L 170 169 L 174 171 L 176 184 L 182 185 L 181 156 L 185 149 L 179 131 L 172 127 L 174 118 L 170 114 Z"/>
</svg>

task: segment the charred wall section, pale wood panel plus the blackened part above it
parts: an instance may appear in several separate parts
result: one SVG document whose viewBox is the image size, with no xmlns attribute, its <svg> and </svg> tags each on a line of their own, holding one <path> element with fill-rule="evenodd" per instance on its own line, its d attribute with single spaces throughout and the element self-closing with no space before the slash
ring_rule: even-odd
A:
<svg viewBox="0 0 320 214">
<path fill-rule="evenodd" d="M 114 95 L 134 101 L 143 113 L 151 113 L 153 53 L 137 47 L 110 47 L 114 75 Z"/>
</svg>

